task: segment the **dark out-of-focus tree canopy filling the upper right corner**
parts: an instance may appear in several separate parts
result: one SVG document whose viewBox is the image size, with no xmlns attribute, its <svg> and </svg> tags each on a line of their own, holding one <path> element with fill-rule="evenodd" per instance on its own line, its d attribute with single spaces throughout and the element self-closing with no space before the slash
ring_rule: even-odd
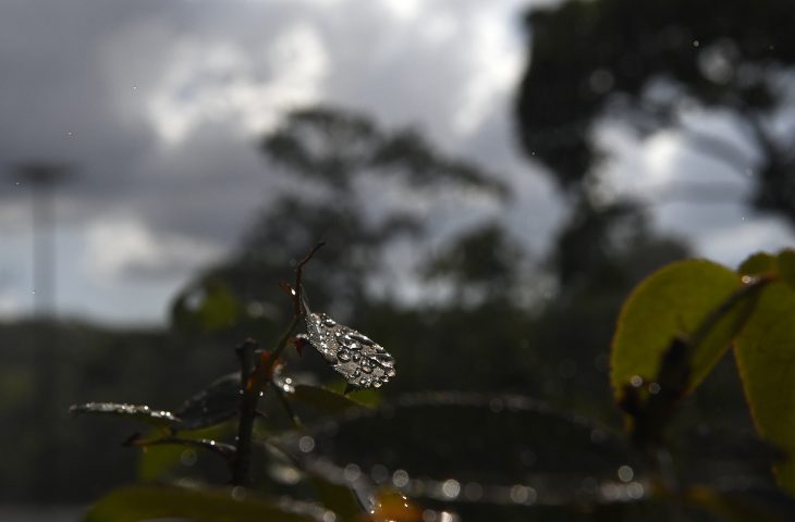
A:
<svg viewBox="0 0 795 522">
<path fill-rule="evenodd" d="M 753 204 L 795 225 L 795 122 L 787 113 L 795 3 L 576 0 L 526 20 L 533 47 L 518 96 L 521 140 L 564 189 L 582 195 L 594 186 L 602 152 L 595 125 L 609 116 L 641 136 L 676 130 L 743 177 L 753 172 Z M 683 117 L 698 105 L 731 115 L 756 153 Z M 684 190 L 699 190 L 694 182 Z"/>
</svg>

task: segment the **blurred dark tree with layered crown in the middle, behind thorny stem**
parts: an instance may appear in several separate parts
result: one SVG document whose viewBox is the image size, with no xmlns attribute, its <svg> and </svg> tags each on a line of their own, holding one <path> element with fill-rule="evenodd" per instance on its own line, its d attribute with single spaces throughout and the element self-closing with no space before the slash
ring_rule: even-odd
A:
<svg viewBox="0 0 795 522">
<path fill-rule="evenodd" d="M 358 320 L 391 297 L 371 291 L 375 279 L 390 277 L 389 247 L 407 241 L 416 258 L 427 250 L 435 223 L 416 201 L 432 206 L 456 190 L 507 198 L 497 178 L 441 154 L 416 130 L 384 130 L 339 109 L 294 112 L 261 147 L 270 174 L 292 185 L 262 209 L 230 259 L 176 299 L 178 325 L 232 336 L 265 334 L 266 324 L 280 327 L 290 310 L 269 304 L 279 302 L 276 282 L 289 281 L 291 258 L 318 240 L 327 245 L 305 274 L 309 304 L 341 321 Z"/>
</svg>

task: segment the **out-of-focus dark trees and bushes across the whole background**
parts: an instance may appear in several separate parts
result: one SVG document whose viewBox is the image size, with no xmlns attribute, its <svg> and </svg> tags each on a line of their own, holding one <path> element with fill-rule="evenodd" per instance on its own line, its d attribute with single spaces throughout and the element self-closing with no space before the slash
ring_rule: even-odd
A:
<svg viewBox="0 0 795 522">
<path fill-rule="evenodd" d="M 278 282 L 291 281 L 296 258 L 318 240 L 327 246 L 305 274 L 309 306 L 392 352 L 399 376 L 382 390 L 384 400 L 428 390 L 514 393 L 619 431 L 608 378 L 619 307 L 641 277 L 686 257 L 688 247 L 657 234 L 643 202 L 604 197 L 598 167 L 609 150 L 597 145 L 595 128 L 608 119 L 640 136 L 675 129 L 745 175 L 747 161 L 730 144 L 683 117 L 696 105 L 727 111 L 761 158 L 749 206 L 795 225 L 795 126 L 775 125 L 793 96 L 795 5 L 570 1 L 534 10 L 526 22 L 533 47 L 517 86 L 516 132 L 528 158 L 548 167 L 571 202 L 549 252 L 527 251 L 499 221 L 439 239 L 429 216 L 444 198 L 513 204 L 488 165 L 447 157 L 414 129 L 386 129 L 344 108 L 295 111 L 259 144 L 264 175 L 284 175 L 283 191 L 242 232 L 234 252 L 175 296 L 168 331 L 70 321 L 0 325 L 7 426 L 0 500 L 83 502 L 134 481 L 139 457 L 113 445 L 131 430 L 103 420 L 66 422 L 68 406 L 107 399 L 178 408 L 235 371 L 233 349 L 243 338 L 267 347 L 288 323 L 291 307 Z M 698 201 L 712 188 L 694 179 L 682 190 Z M 400 204 L 368 199 L 379 191 L 400 194 Z M 51 433 L 38 428 L 32 403 L 29 346 L 41 328 L 56 348 L 48 361 L 58 418 Z M 334 385 L 317 353 L 286 357 L 314 382 Z M 684 405 L 674 446 L 684 474 L 768 484 L 768 457 L 749 443 L 733 364 L 723 360 Z M 536 435 L 539 448 L 558 450 L 554 433 Z M 467 436 L 477 439 L 478 426 Z M 44 446 L 54 457 L 46 469 L 32 467 Z M 443 460 L 425 464 L 441 469 Z"/>
</svg>

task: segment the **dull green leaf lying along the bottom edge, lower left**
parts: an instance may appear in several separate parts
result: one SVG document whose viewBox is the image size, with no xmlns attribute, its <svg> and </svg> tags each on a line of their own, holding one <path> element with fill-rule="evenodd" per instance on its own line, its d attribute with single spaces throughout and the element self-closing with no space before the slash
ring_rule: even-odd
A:
<svg viewBox="0 0 795 522">
<path fill-rule="evenodd" d="M 240 492 L 240 495 L 235 495 Z M 274 504 L 246 497 L 242 489 L 132 486 L 115 489 L 91 506 L 85 522 L 136 522 L 181 518 L 197 522 L 310 522 Z M 249 493 L 250 495 L 250 493 Z M 241 498 L 242 497 L 242 498 Z"/>
</svg>

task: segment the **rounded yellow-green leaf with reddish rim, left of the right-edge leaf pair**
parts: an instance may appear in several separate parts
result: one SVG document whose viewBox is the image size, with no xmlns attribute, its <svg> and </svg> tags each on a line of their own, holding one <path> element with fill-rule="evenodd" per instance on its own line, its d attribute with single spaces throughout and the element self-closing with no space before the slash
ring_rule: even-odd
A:
<svg viewBox="0 0 795 522">
<path fill-rule="evenodd" d="M 688 347 L 687 388 L 698 385 L 736 335 L 747 307 L 733 307 L 707 331 L 704 323 L 741 287 L 736 273 L 705 260 L 672 263 L 643 281 L 624 302 L 613 336 L 611 384 L 616 398 L 622 399 L 633 377 L 653 381 L 677 337 L 694 343 Z"/>
</svg>

